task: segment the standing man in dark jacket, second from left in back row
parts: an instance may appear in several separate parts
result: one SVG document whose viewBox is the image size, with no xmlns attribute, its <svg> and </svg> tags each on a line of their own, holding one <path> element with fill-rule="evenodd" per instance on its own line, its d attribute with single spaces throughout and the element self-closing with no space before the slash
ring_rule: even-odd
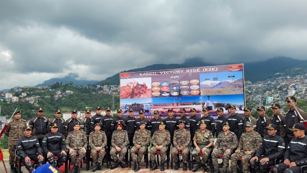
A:
<svg viewBox="0 0 307 173">
<path fill-rule="evenodd" d="M 37 117 L 30 120 L 29 126 L 32 128 L 32 135 L 38 138 L 38 143 L 41 145 L 44 136 L 47 134 L 49 119 L 44 116 L 44 109 L 37 109 Z"/>
</svg>

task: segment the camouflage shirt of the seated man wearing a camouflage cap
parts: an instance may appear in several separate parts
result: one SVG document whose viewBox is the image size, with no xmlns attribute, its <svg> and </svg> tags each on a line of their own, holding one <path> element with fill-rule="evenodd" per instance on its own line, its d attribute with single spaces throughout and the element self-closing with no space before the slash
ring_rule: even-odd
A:
<svg viewBox="0 0 307 173">
<path fill-rule="evenodd" d="M 251 151 L 251 153 L 256 153 L 261 144 L 262 138 L 258 132 L 252 131 L 251 134 L 243 132 L 237 149 L 241 151 Z"/>
</svg>

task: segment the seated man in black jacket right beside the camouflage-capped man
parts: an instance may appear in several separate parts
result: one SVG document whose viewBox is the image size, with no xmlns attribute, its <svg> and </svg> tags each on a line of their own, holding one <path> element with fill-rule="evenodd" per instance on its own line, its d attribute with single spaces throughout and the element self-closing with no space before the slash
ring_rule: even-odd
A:
<svg viewBox="0 0 307 173">
<path fill-rule="evenodd" d="M 277 126 L 269 124 L 266 128 L 269 135 L 264 136 L 262 145 L 250 161 L 251 167 L 260 173 L 267 172 L 266 168 L 274 165 L 275 159 L 283 157 L 285 150 L 285 141 L 276 134 Z"/>
</svg>

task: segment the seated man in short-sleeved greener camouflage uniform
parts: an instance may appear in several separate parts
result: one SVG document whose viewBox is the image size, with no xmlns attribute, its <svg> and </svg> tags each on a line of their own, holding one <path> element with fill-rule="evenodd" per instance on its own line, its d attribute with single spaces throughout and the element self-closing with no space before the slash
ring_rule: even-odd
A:
<svg viewBox="0 0 307 173">
<path fill-rule="evenodd" d="M 210 155 L 210 147 L 214 143 L 212 132 L 206 129 L 206 121 L 201 120 L 198 122 L 200 129 L 195 132 L 193 137 L 193 143 L 195 148 L 192 151 L 192 156 L 198 162 L 196 167 L 193 167 L 192 171 L 196 172 L 200 167 L 204 168 L 204 171 L 208 172 L 208 168 L 205 165 L 208 156 Z M 203 153 L 203 158 L 200 160 L 199 153 Z"/>
</svg>

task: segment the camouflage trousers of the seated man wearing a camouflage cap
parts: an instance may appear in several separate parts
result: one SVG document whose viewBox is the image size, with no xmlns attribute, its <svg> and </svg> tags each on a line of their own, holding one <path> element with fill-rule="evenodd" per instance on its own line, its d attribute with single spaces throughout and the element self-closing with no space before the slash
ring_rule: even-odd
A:
<svg viewBox="0 0 307 173">
<path fill-rule="evenodd" d="M 249 162 L 251 160 L 251 155 L 250 154 L 245 154 L 244 151 L 240 151 L 239 153 L 233 153 L 231 155 L 231 163 L 230 163 L 230 166 L 231 168 L 237 168 L 237 163 L 238 163 L 238 160 L 242 158 L 242 172 L 243 173 L 248 173 L 250 170 L 249 170 Z"/>
</svg>

